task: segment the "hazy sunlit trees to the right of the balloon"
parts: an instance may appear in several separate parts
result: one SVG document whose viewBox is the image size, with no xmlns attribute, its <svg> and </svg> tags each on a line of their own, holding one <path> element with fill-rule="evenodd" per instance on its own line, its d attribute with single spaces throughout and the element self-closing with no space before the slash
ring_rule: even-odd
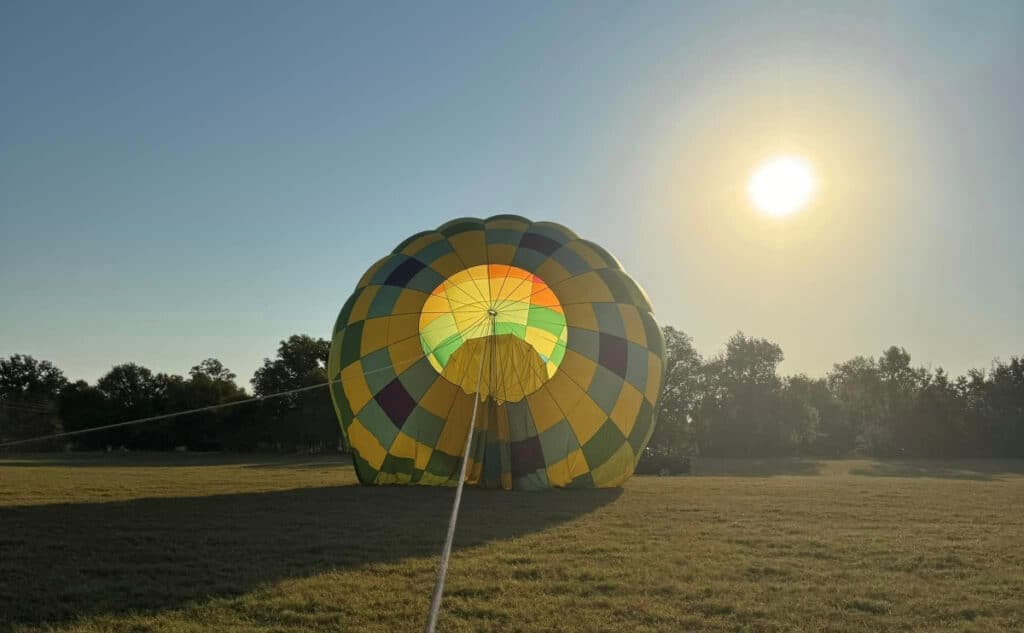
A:
<svg viewBox="0 0 1024 633">
<path fill-rule="evenodd" d="M 951 377 L 902 347 L 780 376 L 782 348 L 733 335 L 701 357 L 671 326 L 649 453 L 708 457 L 1024 457 L 1024 358 Z"/>
</svg>

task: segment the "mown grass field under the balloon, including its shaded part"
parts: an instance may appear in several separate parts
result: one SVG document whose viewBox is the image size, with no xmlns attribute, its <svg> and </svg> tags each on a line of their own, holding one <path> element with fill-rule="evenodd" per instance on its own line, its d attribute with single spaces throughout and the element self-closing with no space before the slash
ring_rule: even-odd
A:
<svg viewBox="0 0 1024 633">
<path fill-rule="evenodd" d="M 467 490 L 441 631 L 1021 631 L 1024 463 Z M 451 490 L 336 458 L 0 458 L 0 631 L 415 631 Z"/>
</svg>

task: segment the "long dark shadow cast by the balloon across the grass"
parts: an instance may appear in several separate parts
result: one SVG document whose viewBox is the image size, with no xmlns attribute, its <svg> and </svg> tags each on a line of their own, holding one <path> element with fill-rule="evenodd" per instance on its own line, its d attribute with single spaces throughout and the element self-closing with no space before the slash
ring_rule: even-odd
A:
<svg viewBox="0 0 1024 633">
<path fill-rule="evenodd" d="M 621 492 L 467 489 L 456 547 L 571 520 Z M 153 613 L 285 578 L 437 556 L 453 495 L 345 486 L 0 508 L 0 631 Z"/>
</svg>

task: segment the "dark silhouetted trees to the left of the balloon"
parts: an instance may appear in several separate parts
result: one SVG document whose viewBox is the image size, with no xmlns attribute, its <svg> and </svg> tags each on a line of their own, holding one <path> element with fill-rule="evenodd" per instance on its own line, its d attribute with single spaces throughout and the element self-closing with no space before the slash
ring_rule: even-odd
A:
<svg viewBox="0 0 1024 633">
<path fill-rule="evenodd" d="M 187 376 L 124 363 L 95 384 L 71 382 L 48 361 L 24 354 L 0 358 L 0 444 L 323 385 L 330 347 L 330 342 L 305 335 L 282 341 L 276 356 L 264 358 L 249 381 L 252 393 L 216 358 L 196 365 Z M 323 451 L 336 449 L 339 436 L 331 398 L 323 388 L 23 450 Z"/>
</svg>

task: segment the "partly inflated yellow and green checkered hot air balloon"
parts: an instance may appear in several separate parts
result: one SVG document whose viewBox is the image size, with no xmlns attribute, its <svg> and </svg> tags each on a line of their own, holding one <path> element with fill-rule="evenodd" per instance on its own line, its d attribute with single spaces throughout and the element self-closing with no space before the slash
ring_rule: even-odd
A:
<svg viewBox="0 0 1024 633">
<path fill-rule="evenodd" d="M 553 222 L 459 218 L 367 270 L 328 375 L 368 484 L 621 486 L 654 427 L 665 342 L 640 287 Z"/>
</svg>

